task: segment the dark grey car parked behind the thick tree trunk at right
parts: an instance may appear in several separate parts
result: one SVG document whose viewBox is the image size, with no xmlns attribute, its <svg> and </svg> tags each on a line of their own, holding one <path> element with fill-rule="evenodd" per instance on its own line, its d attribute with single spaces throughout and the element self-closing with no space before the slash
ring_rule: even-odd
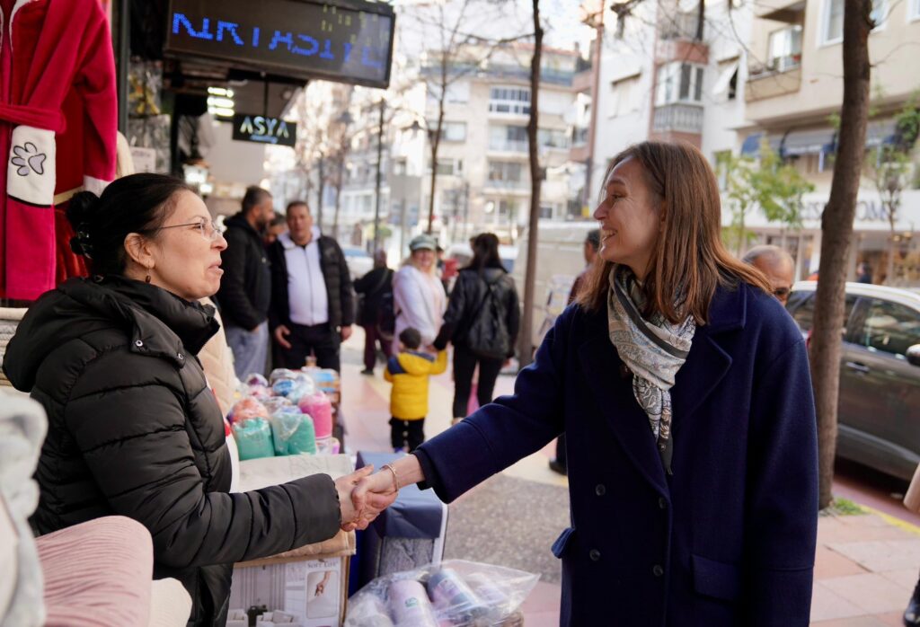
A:
<svg viewBox="0 0 920 627">
<path fill-rule="evenodd" d="M 817 282 L 787 309 L 808 335 Z M 837 455 L 905 480 L 920 462 L 920 291 L 847 283 Z"/>
</svg>

